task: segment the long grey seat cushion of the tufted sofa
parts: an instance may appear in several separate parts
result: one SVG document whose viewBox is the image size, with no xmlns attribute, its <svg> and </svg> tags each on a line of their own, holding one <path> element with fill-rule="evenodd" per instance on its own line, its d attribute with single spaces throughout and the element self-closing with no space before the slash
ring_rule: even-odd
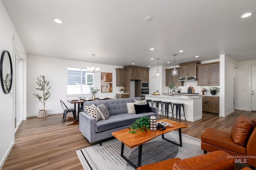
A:
<svg viewBox="0 0 256 170">
<path fill-rule="evenodd" d="M 132 124 L 136 119 L 146 116 L 150 117 L 151 115 L 156 115 L 156 113 L 148 112 L 148 113 L 139 113 L 139 114 L 128 114 L 122 113 L 119 115 L 110 115 L 108 119 L 96 122 L 95 131 L 96 133 L 106 131 L 108 129 L 114 129 L 116 127 L 122 127 L 126 125 Z M 128 129 L 127 129 L 128 130 Z"/>
</svg>

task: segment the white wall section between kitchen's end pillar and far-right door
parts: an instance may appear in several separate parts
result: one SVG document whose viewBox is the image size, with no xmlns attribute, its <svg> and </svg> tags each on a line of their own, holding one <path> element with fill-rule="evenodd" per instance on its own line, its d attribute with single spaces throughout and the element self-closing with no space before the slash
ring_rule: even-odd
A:
<svg viewBox="0 0 256 170">
<path fill-rule="evenodd" d="M 238 63 L 235 69 L 235 109 L 251 111 L 251 66 L 256 60 Z"/>
</svg>

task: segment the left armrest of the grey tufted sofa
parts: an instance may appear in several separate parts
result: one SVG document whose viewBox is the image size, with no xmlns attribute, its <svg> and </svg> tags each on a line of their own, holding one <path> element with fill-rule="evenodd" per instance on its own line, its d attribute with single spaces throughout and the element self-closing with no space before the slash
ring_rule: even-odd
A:
<svg viewBox="0 0 256 170">
<path fill-rule="evenodd" d="M 79 131 L 88 139 L 90 143 L 96 142 L 96 120 L 85 112 L 79 114 Z"/>
</svg>

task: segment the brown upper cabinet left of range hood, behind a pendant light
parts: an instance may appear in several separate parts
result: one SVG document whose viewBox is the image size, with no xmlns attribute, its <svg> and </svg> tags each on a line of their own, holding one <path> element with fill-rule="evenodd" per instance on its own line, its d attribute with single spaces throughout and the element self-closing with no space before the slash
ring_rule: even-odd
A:
<svg viewBox="0 0 256 170">
<path fill-rule="evenodd" d="M 176 68 L 178 70 L 177 76 L 172 76 L 173 68 L 165 69 L 165 86 L 170 86 L 171 83 L 174 83 L 176 86 L 183 86 L 184 82 L 179 82 L 180 80 L 180 68 Z"/>
</svg>

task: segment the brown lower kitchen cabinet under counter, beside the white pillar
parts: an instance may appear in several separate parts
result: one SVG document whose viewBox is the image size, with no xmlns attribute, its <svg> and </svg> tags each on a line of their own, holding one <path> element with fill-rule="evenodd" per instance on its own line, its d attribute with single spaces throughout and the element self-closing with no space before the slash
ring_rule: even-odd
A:
<svg viewBox="0 0 256 170">
<path fill-rule="evenodd" d="M 202 111 L 220 113 L 220 98 L 216 96 L 204 96 L 202 98 Z"/>
</svg>

